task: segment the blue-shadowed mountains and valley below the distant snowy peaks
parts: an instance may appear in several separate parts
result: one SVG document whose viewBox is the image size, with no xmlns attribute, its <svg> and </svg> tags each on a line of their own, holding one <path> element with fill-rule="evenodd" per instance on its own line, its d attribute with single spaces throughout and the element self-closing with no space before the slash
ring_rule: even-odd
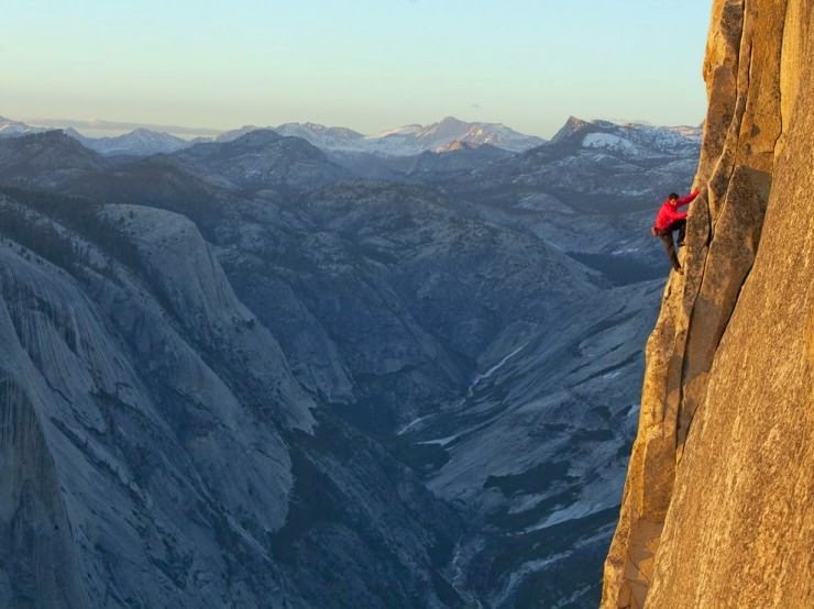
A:
<svg viewBox="0 0 814 609">
<path fill-rule="evenodd" d="M 595 606 L 696 159 L 0 140 L 0 600 Z"/>
</svg>

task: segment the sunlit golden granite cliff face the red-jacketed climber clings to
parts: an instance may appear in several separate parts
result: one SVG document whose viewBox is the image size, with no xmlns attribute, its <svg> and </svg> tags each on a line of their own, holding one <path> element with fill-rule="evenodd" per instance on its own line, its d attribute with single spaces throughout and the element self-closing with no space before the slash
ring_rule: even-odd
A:
<svg viewBox="0 0 814 609">
<path fill-rule="evenodd" d="M 811 607 L 814 10 L 716 0 L 684 275 L 647 344 L 603 607 Z"/>
</svg>

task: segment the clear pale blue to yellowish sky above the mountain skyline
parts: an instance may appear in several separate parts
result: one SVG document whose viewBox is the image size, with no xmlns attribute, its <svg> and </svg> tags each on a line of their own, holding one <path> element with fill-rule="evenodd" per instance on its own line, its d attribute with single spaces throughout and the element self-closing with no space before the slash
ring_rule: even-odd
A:
<svg viewBox="0 0 814 609">
<path fill-rule="evenodd" d="M 0 0 L 0 115 L 698 124 L 712 0 Z"/>
</svg>

